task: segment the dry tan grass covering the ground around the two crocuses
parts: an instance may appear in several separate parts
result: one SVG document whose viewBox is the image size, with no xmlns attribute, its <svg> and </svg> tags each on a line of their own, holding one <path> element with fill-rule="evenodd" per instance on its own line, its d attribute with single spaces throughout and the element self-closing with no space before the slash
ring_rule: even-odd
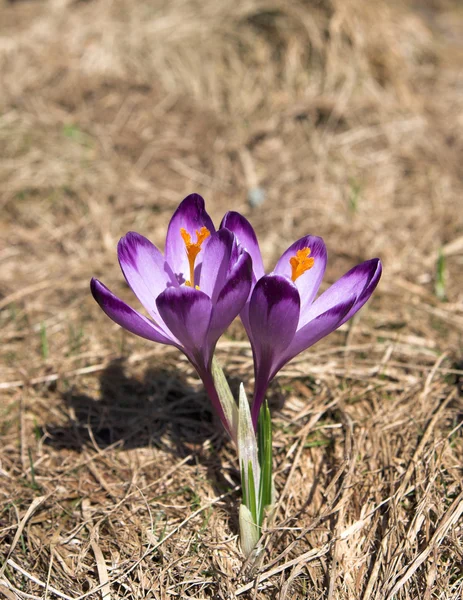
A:
<svg viewBox="0 0 463 600">
<path fill-rule="evenodd" d="M 0 596 L 462 598 L 458 1 L 0 10 Z M 130 298 L 118 238 L 162 246 L 192 191 L 216 222 L 244 212 L 269 266 L 308 232 L 327 282 L 384 262 L 369 306 L 272 386 L 278 517 L 253 568 L 190 366 L 88 291 Z M 250 380 L 238 324 L 219 355 Z"/>
</svg>

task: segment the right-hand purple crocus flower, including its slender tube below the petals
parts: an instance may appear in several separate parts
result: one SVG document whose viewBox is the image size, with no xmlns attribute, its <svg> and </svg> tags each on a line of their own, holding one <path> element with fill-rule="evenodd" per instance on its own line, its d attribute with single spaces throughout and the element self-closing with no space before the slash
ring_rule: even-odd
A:
<svg viewBox="0 0 463 600">
<path fill-rule="evenodd" d="M 221 228 L 232 231 L 252 258 L 253 281 L 241 320 L 254 356 L 252 419 L 257 425 L 267 387 L 297 354 L 350 319 L 368 300 L 381 277 L 378 258 L 363 262 L 315 299 L 327 253 L 320 237 L 294 242 L 266 275 L 256 234 L 242 215 L 229 212 Z"/>
</svg>

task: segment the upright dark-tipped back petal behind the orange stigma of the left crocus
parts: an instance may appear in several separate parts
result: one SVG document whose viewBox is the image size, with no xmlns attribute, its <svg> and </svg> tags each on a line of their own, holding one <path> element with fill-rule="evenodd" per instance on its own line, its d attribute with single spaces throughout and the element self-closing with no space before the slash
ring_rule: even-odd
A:
<svg viewBox="0 0 463 600">
<path fill-rule="evenodd" d="M 172 215 L 166 237 L 166 261 L 172 267 L 180 284 L 190 278 L 188 257 L 181 229 L 185 229 L 191 235 L 192 242 L 195 242 L 196 231 L 199 231 L 202 227 L 206 227 L 211 235 L 215 233 L 214 224 L 206 212 L 203 198 L 199 194 L 190 194 L 180 203 Z M 201 252 L 196 259 L 196 266 L 201 264 L 204 249 L 207 247 L 208 242 L 209 238 L 203 242 Z"/>
</svg>

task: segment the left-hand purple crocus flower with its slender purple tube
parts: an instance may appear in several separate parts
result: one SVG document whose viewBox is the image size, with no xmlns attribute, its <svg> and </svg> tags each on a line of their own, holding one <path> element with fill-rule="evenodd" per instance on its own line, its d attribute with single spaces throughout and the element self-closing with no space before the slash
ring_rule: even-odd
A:
<svg viewBox="0 0 463 600">
<path fill-rule="evenodd" d="M 215 231 L 197 194 L 187 196 L 167 230 L 165 256 L 138 233 L 117 248 L 122 272 L 151 319 L 97 279 L 90 287 L 104 312 L 143 338 L 181 350 L 203 380 L 225 428 L 232 434 L 211 375 L 217 340 L 243 308 L 251 288 L 251 259 L 227 229 Z"/>
</svg>

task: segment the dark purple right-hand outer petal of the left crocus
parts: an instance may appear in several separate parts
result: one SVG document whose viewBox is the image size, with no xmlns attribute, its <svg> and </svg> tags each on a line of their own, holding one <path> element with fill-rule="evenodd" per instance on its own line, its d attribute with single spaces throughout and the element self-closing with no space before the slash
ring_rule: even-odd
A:
<svg viewBox="0 0 463 600">
<path fill-rule="evenodd" d="M 204 257 L 206 260 L 206 257 Z M 203 267 L 205 267 L 205 263 Z M 217 300 L 213 301 L 209 344 L 214 347 L 219 337 L 243 309 L 251 291 L 252 262 L 247 252 L 233 265 L 223 282 Z"/>
</svg>

